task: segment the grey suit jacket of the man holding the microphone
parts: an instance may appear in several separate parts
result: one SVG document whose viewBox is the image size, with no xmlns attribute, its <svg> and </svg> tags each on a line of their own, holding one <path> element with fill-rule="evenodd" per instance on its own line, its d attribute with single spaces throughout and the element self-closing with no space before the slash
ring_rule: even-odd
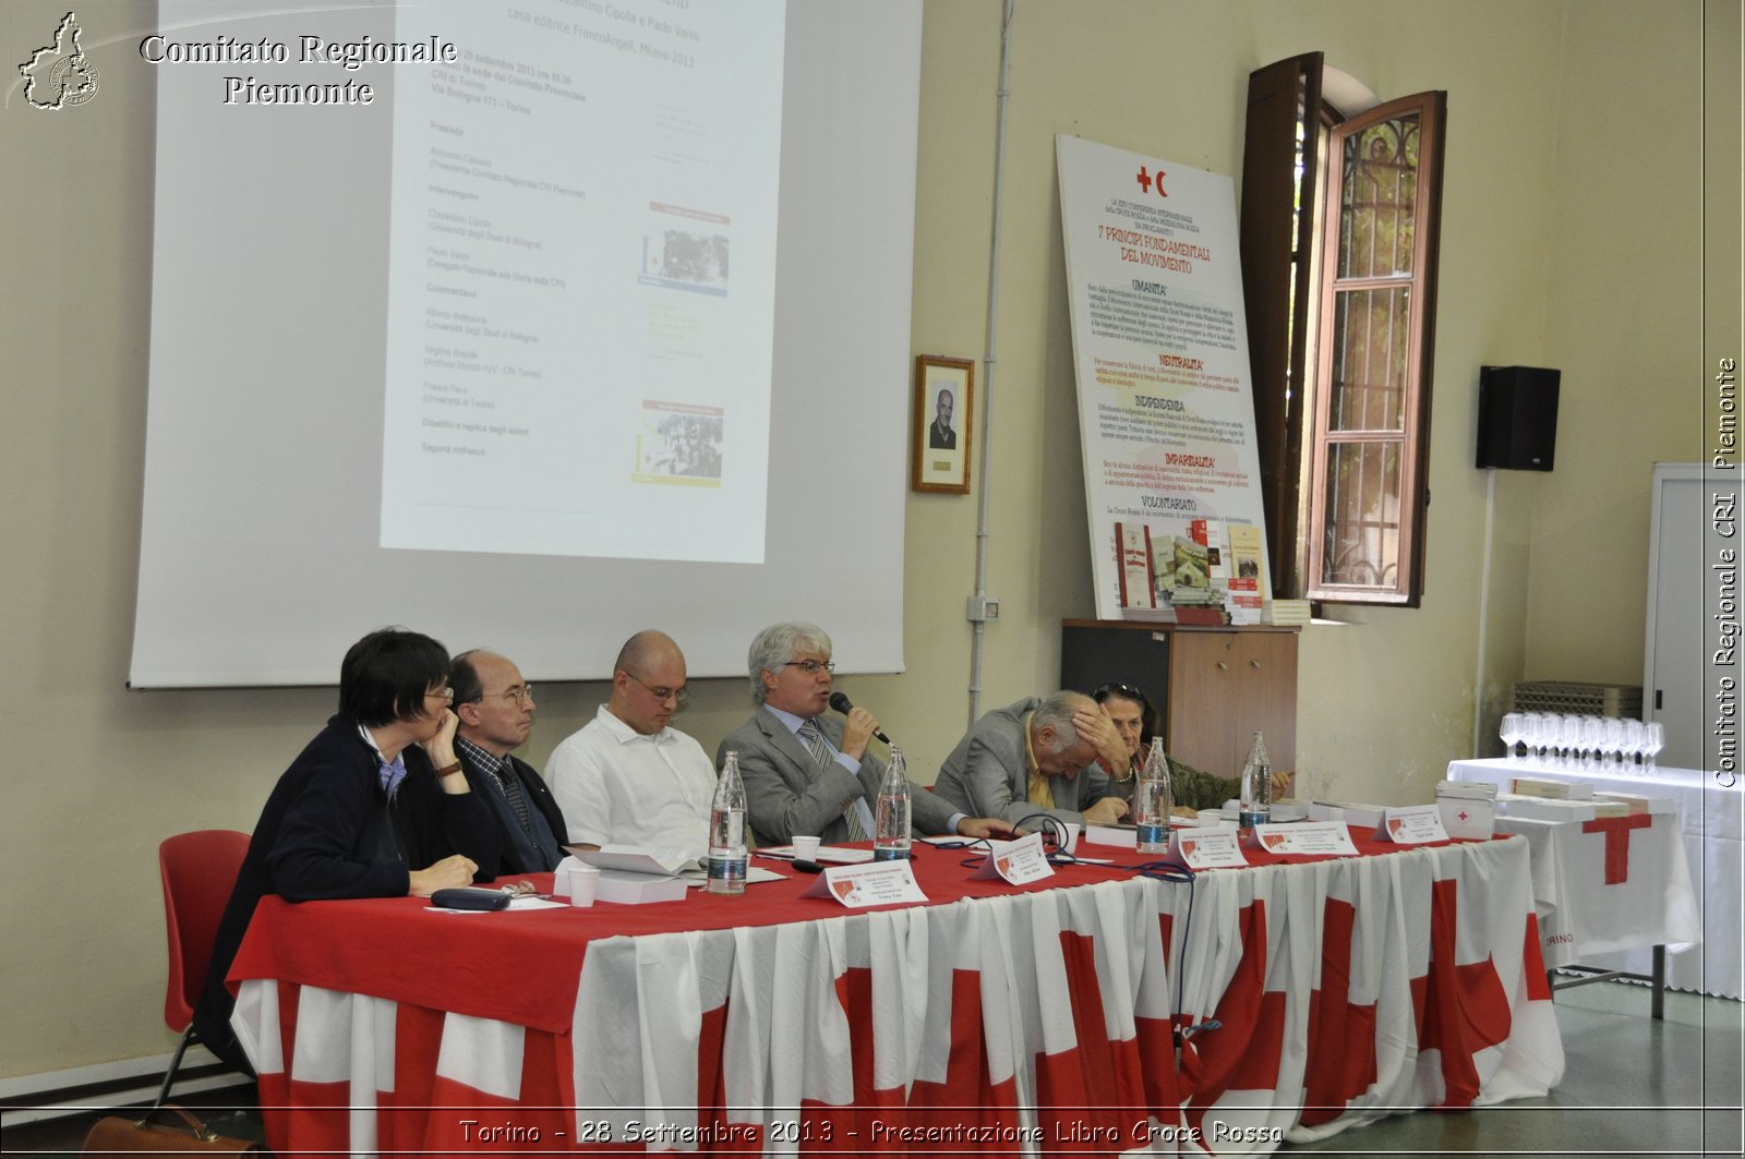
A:
<svg viewBox="0 0 1745 1159">
<path fill-rule="evenodd" d="M 820 716 L 818 728 L 832 745 L 841 747 L 843 717 Z M 885 778 L 885 761 L 871 752 L 860 761 L 859 777 L 838 763 L 820 770 L 799 737 L 764 707 L 721 742 L 715 768 L 726 765 L 729 749 L 740 754 L 745 812 L 764 845 L 785 845 L 796 833 L 818 834 L 825 845 L 846 841 L 843 806 L 862 796 L 872 808 Z M 909 822 L 916 831 L 928 836 L 949 833 L 951 815 L 958 810 L 913 780 L 909 798 Z"/>
</svg>

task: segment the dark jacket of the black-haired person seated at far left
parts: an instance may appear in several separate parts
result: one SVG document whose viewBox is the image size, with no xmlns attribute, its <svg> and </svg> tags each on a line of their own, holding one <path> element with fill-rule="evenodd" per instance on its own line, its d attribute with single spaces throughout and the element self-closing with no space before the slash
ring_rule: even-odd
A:
<svg viewBox="0 0 1745 1159">
<path fill-rule="evenodd" d="M 476 880 L 496 876 L 490 806 L 476 792 L 443 792 L 417 745 L 403 756 L 407 778 L 389 803 L 375 751 L 356 721 L 335 716 L 274 785 L 218 920 L 206 991 L 194 1011 L 201 1040 L 227 1063 L 248 1070 L 230 1033 L 236 998 L 223 979 L 262 897 L 405 897 L 412 869 L 452 854 L 478 862 Z"/>
</svg>

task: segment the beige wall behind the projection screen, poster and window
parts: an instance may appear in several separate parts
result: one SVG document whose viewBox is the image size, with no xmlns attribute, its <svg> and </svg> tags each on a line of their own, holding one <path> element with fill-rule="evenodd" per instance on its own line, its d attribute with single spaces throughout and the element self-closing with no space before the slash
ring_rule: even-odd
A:
<svg viewBox="0 0 1745 1159">
<path fill-rule="evenodd" d="M 1003 614 L 988 632 L 982 705 L 1050 686 L 1059 620 L 1092 606 L 1054 134 L 1237 175 L 1248 72 L 1309 49 L 1382 96 L 1447 89 L 1450 129 L 1429 590 L 1419 611 L 1354 613 L 1304 635 L 1302 784 L 1405 801 L 1469 751 L 1485 531 L 1471 442 L 1487 361 L 1560 367 L 1564 419 L 1553 475 L 1497 477 L 1483 703 L 1494 716 L 1523 677 L 1635 682 L 1649 463 L 1701 452 L 1698 2 L 1019 0 L 1017 10 L 991 445 L 989 590 Z M 63 12 L 5 5 L 0 59 L 23 59 Z M 150 75 L 131 44 L 155 14 L 126 2 L 79 12 L 101 31 L 86 42 L 99 98 L 35 113 L 14 87 L 0 110 L 10 279 L 0 1077 L 169 1049 L 157 841 L 250 827 L 333 698 L 122 688 L 152 180 Z M 998 14 L 998 0 L 925 10 L 916 353 L 986 353 Z M 1736 9 L 1729 28 L 1736 45 Z M 1715 91 L 1736 124 L 1736 89 Z M 1722 182 L 1710 197 L 1736 194 Z M 1736 323 L 1736 285 L 1733 305 L 1722 330 Z M 1736 347 L 1736 326 L 1722 337 Z M 909 672 L 845 682 L 907 742 L 923 780 L 965 724 L 974 532 L 974 497 L 909 499 Z M 529 758 L 543 761 L 600 695 L 541 689 Z M 684 726 L 712 747 L 745 707 L 743 682 L 712 681 Z"/>
</svg>

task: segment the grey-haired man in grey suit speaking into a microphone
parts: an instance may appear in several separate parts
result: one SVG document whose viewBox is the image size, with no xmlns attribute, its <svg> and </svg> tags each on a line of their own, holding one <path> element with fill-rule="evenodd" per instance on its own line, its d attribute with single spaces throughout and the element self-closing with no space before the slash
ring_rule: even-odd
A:
<svg viewBox="0 0 1745 1159">
<path fill-rule="evenodd" d="M 825 845 L 872 838 L 885 763 L 867 754 L 879 731 L 866 709 L 848 717 L 831 707 L 831 637 L 811 623 L 775 623 L 747 656 L 757 710 L 715 749 L 715 768 L 740 754 L 745 808 L 759 841 L 782 845 L 820 836 Z M 1012 827 L 960 810 L 911 782 L 911 824 L 923 834 L 1003 838 Z"/>
</svg>

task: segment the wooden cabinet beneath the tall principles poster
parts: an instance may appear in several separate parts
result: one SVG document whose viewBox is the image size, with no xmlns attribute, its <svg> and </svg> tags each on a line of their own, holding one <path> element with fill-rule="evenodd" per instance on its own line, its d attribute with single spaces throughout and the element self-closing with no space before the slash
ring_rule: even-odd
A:
<svg viewBox="0 0 1745 1159">
<path fill-rule="evenodd" d="M 1297 628 L 1068 620 L 1061 688 L 1133 684 L 1162 712 L 1164 749 L 1216 777 L 1242 772 L 1249 737 L 1297 768 Z"/>
</svg>

